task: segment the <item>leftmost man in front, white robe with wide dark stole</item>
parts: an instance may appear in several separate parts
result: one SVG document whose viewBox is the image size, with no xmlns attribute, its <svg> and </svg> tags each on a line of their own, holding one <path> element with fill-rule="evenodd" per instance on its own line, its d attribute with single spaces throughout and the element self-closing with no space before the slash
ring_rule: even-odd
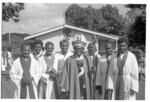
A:
<svg viewBox="0 0 150 102">
<path fill-rule="evenodd" d="M 39 63 L 30 57 L 30 44 L 21 46 L 21 57 L 17 58 L 10 69 L 10 77 L 17 86 L 15 98 L 38 98 L 37 84 L 41 77 Z"/>
</svg>

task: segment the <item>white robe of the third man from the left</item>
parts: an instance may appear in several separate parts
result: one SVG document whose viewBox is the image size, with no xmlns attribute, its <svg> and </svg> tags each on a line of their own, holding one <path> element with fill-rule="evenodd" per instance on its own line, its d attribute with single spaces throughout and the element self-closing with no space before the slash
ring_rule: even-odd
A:
<svg viewBox="0 0 150 102">
<path fill-rule="evenodd" d="M 51 57 L 54 57 L 54 56 L 51 56 Z M 51 58 L 49 57 L 49 59 Z M 45 61 L 45 58 L 44 56 L 40 57 L 38 59 L 38 62 L 40 64 L 40 67 L 41 67 L 41 72 L 42 72 L 42 75 L 41 75 L 41 80 L 43 82 L 45 82 L 47 84 L 47 89 L 46 89 L 46 99 L 51 99 L 52 98 L 52 90 L 53 90 L 53 84 L 54 82 L 52 80 L 49 79 L 49 75 L 46 74 L 46 70 L 47 70 L 47 63 Z M 57 69 L 54 68 L 56 71 Z M 42 87 L 42 86 L 40 86 Z M 42 93 L 39 92 L 39 98 L 42 98 Z"/>
</svg>

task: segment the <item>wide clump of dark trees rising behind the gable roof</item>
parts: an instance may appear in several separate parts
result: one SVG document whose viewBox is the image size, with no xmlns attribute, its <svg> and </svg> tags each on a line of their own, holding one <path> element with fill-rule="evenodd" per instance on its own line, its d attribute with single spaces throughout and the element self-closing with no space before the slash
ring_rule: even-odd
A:
<svg viewBox="0 0 150 102">
<path fill-rule="evenodd" d="M 65 12 L 66 23 L 81 28 L 119 35 L 123 28 L 124 18 L 118 9 L 106 5 L 100 9 L 92 6 L 86 8 L 72 4 Z"/>
</svg>

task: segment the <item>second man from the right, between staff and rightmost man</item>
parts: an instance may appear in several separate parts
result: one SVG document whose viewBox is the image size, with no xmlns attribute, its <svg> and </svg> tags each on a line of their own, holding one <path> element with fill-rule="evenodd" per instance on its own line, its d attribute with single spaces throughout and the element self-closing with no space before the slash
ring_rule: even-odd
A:
<svg viewBox="0 0 150 102">
<path fill-rule="evenodd" d="M 97 85 L 101 86 L 102 92 L 100 99 L 112 99 L 112 90 L 107 89 L 107 78 L 108 78 L 108 71 L 110 69 L 113 69 L 115 67 L 114 64 L 114 56 L 112 45 L 110 42 L 107 42 L 105 45 L 106 54 L 100 57 L 98 74 L 99 79 L 97 79 Z M 108 93 L 111 93 L 111 95 L 108 95 Z"/>
</svg>

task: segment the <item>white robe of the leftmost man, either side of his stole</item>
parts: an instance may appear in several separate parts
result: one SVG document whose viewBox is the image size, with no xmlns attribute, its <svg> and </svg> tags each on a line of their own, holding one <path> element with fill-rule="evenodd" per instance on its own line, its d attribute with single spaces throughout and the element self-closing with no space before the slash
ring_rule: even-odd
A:
<svg viewBox="0 0 150 102">
<path fill-rule="evenodd" d="M 35 98 L 38 98 L 37 84 L 38 84 L 38 81 L 41 77 L 41 72 L 40 72 L 39 63 L 33 58 L 31 58 L 30 74 L 34 79 L 32 84 L 33 84 L 33 90 L 34 90 Z M 15 91 L 15 98 L 20 98 L 22 76 L 23 76 L 23 69 L 21 66 L 20 58 L 17 58 L 14 61 L 12 68 L 10 70 L 10 77 L 15 82 L 15 84 L 17 86 L 17 90 Z M 26 98 L 29 98 L 28 87 L 27 87 Z"/>
</svg>

